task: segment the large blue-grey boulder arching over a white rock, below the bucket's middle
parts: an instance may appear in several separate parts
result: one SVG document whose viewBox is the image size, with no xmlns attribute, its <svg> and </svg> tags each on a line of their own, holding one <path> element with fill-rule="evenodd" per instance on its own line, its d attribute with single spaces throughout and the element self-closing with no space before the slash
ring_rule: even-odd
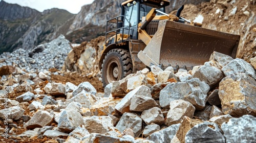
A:
<svg viewBox="0 0 256 143">
<path fill-rule="evenodd" d="M 201 110 L 205 107 L 209 89 L 209 85 L 198 78 L 186 82 L 170 83 L 160 91 L 160 106 L 168 109 L 171 101 L 182 99 L 190 102 L 196 110 Z"/>
</svg>

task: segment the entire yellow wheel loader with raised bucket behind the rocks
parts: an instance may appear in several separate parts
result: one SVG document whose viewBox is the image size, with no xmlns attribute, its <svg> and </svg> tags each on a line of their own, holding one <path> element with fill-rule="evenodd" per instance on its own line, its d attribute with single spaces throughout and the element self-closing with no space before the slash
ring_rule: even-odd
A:
<svg viewBox="0 0 256 143">
<path fill-rule="evenodd" d="M 156 65 L 190 70 L 208 61 L 214 51 L 236 58 L 240 35 L 202 28 L 202 23 L 165 13 L 167 0 L 128 0 L 121 15 L 106 21 L 99 61 L 102 83 Z"/>
</svg>

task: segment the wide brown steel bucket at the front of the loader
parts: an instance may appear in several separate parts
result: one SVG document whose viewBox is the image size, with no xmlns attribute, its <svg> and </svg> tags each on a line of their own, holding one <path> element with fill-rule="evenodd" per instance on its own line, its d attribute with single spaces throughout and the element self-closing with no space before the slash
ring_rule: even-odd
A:
<svg viewBox="0 0 256 143">
<path fill-rule="evenodd" d="M 161 64 L 191 69 L 209 61 L 214 51 L 236 58 L 239 40 L 240 35 L 161 20 L 157 32 L 138 57 L 148 67 Z"/>
</svg>

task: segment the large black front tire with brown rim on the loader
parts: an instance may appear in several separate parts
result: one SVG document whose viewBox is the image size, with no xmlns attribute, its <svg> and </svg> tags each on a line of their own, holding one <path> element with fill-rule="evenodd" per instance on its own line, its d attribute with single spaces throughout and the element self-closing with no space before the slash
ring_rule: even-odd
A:
<svg viewBox="0 0 256 143">
<path fill-rule="evenodd" d="M 133 64 L 129 51 L 113 49 L 109 51 L 102 63 L 101 77 L 105 87 L 112 81 L 118 81 L 133 72 Z"/>
</svg>

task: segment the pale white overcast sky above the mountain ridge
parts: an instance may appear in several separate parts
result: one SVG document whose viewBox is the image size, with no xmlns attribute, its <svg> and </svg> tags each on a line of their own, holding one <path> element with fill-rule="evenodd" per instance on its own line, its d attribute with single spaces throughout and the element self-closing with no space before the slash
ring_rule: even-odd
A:
<svg viewBox="0 0 256 143">
<path fill-rule="evenodd" d="M 2 1 L 2 0 L 0 0 Z M 94 0 L 4 0 L 9 4 L 18 4 L 24 7 L 30 7 L 40 12 L 51 9 L 65 9 L 70 13 L 77 14 L 83 5 L 91 4 Z"/>
</svg>

